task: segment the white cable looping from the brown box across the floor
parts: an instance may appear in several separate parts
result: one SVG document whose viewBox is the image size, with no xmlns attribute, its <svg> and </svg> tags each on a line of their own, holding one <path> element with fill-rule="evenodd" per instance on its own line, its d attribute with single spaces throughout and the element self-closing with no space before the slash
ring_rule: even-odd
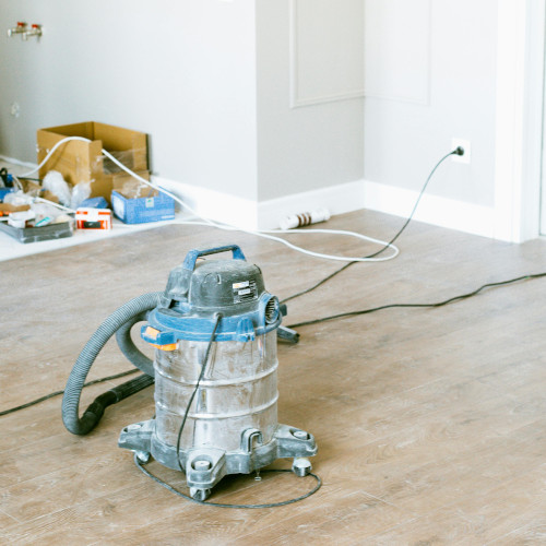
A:
<svg viewBox="0 0 546 546">
<path fill-rule="evenodd" d="M 39 170 L 51 157 L 51 155 L 58 150 L 59 146 L 62 144 L 70 142 L 70 141 L 80 141 L 80 142 L 91 142 L 88 139 L 85 139 L 83 136 L 67 136 L 66 139 L 60 140 L 55 144 L 55 146 L 51 147 L 51 150 L 47 153 L 47 155 L 44 157 L 44 159 L 40 162 L 40 164 L 34 168 L 33 170 L 29 170 L 28 173 L 25 173 L 24 175 L 21 175 L 22 178 L 25 178 L 29 175 L 33 175 L 37 170 Z M 215 222 L 210 218 L 206 218 L 199 214 L 197 211 L 194 211 L 188 203 L 182 201 L 178 195 L 175 193 L 165 190 L 164 188 L 161 188 L 154 182 L 151 182 L 150 180 L 146 180 L 145 178 L 139 176 L 136 173 L 132 171 L 130 168 L 126 167 L 117 157 L 114 157 L 108 151 L 103 150 L 103 154 L 108 157 L 112 163 L 115 163 L 120 169 L 122 169 L 124 173 L 133 177 L 134 179 L 139 180 L 141 183 L 144 183 L 154 190 L 157 190 L 165 195 L 170 197 L 173 200 L 175 200 L 182 209 L 188 211 L 190 214 L 193 216 L 200 218 L 202 222 L 195 222 L 195 221 L 178 221 L 178 224 L 183 224 L 183 225 L 206 225 L 210 227 L 215 227 L 217 229 L 223 229 L 227 232 L 241 232 L 246 233 L 249 235 L 256 235 L 257 237 L 262 237 L 264 239 L 270 239 L 274 240 L 276 242 L 280 242 L 282 245 L 285 245 L 288 248 L 292 248 L 293 250 L 296 250 L 297 252 L 301 252 L 307 256 L 312 256 L 314 258 L 323 258 L 327 260 L 334 260 L 334 261 L 343 261 L 343 262 L 382 262 L 382 261 L 388 261 L 392 260 L 393 258 L 396 258 L 399 254 L 400 250 L 392 244 L 385 242 L 379 239 L 375 239 L 372 237 L 368 237 L 363 234 L 357 234 L 355 232 L 346 232 L 346 230 L 339 230 L 339 229 L 264 229 L 264 230 L 252 230 L 252 229 L 245 229 L 240 228 L 237 226 L 232 226 L 229 224 L 225 224 L 222 222 Z M 308 234 L 308 235 L 316 235 L 316 234 L 331 234 L 331 235 L 342 235 L 342 236 L 349 236 L 349 237 L 356 237 L 357 239 L 365 240 L 367 242 L 372 242 L 375 245 L 380 245 L 381 252 L 385 248 L 390 248 L 392 250 L 391 254 L 383 257 L 383 258 L 358 258 L 358 257 L 343 257 L 343 256 L 335 256 L 335 254 L 328 254 L 323 252 L 313 252 L 311 250 L 307 250 L 302 247 L 299 247 L 297 245 L 294 245 L 293 242 L 287 241 L 286 239 L 283 239 L 281 237 L 275 237 L 273 234 L 290 234 L 290 233 L 298 233 L 298 234 Z M 378 253 L 379 254 L 379 253 Z"/>
</svg>

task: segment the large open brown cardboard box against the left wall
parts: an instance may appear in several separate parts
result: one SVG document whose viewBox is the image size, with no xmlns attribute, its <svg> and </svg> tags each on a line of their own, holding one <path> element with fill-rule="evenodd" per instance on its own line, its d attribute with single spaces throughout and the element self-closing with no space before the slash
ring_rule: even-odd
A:
<svg viewBox="0 0 546 546">
<path fill-rule="evenodd" d="M 112 178 L 122 170 L 103 156 L 103 149 L 131 170 L 147 170 L 145 133 L 96 121 L 38 129 L 38 163 L 57 142 L 67 136 L 84 136 L 92 142 L 71 141 L 62 144 L 39 169 L 40 178 L 49 170 L 58 170 L 73 186 L 92 182 L 91 197 L 103 197 L 109 202 Z"/>
</svg>

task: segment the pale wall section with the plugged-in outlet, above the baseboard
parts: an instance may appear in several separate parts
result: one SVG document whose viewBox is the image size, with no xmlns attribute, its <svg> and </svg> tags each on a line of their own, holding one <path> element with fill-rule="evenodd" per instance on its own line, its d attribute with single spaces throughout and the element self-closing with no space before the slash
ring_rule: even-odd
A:
<svg viewBox="0 0 546 546">
<path fill-rule="evenodd" d="M 418 190 L 453 136 L 471 165 L 450 164 L 428 193 L 495 201 L 497 0 L 366 0 L 364 176 Z"/>
</svg>

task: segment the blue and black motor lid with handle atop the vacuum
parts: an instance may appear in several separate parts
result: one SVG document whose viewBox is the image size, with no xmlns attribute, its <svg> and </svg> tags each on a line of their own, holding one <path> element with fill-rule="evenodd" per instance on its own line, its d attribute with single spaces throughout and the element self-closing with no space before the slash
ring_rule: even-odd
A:
<svg viewBox="0 0 546 546">
<path fill-rule="evenodd" d="M 230 250 L 233 260 L 203 260 Z M 278 300 L 265 290 L 258 265 L 246 261 L 237 245 L 188 252 L 169 275 L 159 306 L 149 314 L 142 337 L 159 347 L 178 340 L 252 341 L 281 324 Z"/>
</svg>

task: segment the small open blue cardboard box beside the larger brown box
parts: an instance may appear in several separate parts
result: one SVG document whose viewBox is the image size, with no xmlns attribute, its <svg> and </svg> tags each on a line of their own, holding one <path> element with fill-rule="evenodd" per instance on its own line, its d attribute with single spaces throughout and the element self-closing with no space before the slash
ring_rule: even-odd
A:
<svg viewBox="0 0 546 546">
<path fill-rule="evenodd" d="M 147 171 L 139 173 L 146 180 Z M 175 200 L 139 182 L 129 175 L 118 175 L 114 178 L 111 192 L 114 214 L 126 224 L 143 224 L 174 219 Z"/>
</svg>

